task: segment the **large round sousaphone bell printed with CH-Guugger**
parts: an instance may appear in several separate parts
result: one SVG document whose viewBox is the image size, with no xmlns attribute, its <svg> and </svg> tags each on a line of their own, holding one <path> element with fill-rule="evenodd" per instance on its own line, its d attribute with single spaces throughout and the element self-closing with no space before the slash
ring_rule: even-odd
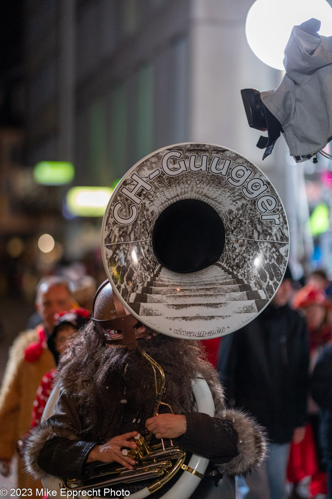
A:
<svg viewBox="0 0 332 499">
<path fill-rule="evenodd" d="M 289 248 L 271 182 L 214 144 L 159 149 L 114 190 L 104 266 L 124 306 L 152 329 L 208 339 L 254 319 L 274 296 Z"/>
</svg>

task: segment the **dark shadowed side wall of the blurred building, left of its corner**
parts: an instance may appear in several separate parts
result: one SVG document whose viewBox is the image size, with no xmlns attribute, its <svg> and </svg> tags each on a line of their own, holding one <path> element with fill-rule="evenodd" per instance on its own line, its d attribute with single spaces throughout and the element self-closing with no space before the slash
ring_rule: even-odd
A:
<svg viewBox="0 0 332 499">
<path fill-rule="evenodd" d="M 71 160 L 75 183 L 110 185 L 188 140 L 190 4 L 29 2 L 29 163 Z"/>
</svg>

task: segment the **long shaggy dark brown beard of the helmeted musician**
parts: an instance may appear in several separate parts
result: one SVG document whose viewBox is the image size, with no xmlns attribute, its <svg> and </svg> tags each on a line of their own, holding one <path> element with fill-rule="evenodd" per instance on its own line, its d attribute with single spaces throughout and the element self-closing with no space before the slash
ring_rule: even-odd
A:
<svg viewBox="0 0 332 499">
<path fill-rule="evenodd" d="M 73 338 L 57 371 L 57 382 L 77 400 L 89 440 L 107 440 L 134 430 L 142 433 L 146 419 L 153 416 L 153 368 L 142 351 L 164 370 L 166 393 L 162 400 L 175 414 L 193 410 L 193 379 L 203 376 L 207 381 L 219 381 L 200 341 L 158 334 L 138 339 L 133 350 L 109 348 L 90 322 Z M 169 412 L 163 409 L 161 406 L 160 412 Z"/>
</svg>

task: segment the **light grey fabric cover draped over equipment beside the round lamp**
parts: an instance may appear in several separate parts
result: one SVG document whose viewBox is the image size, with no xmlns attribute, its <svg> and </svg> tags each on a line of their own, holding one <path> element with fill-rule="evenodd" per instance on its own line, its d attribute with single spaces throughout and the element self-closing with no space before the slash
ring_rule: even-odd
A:
<svg viewBox="0 0 332 499">
<path fill-rule="evenodd" d="M 285 48 L 286 74 L 261 100 L 280 122 L 291 156 L 305 161 L 332 138 L 332 36 L 316 36 L 320 21 L 294 26 Z"/>
</svg>

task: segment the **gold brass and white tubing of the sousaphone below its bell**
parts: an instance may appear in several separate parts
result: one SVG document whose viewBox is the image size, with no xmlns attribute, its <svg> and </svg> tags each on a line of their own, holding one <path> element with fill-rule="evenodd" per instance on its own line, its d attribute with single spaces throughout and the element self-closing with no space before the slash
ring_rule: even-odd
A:
<svg viewBox="0 0 332 499">
<path fill-rule="evenodd" d="M 153 415 L 158 415 L 161 405 L 166 405 L 173 413 L 170 405 L 162 401 L 162 396 L 165 393 L 165 375 L 163 369 L 145 352 L 142 352 L 142 355 L 153 369 L 156 388 L 156 402 Z M 192 387 L 198 411 L 214 416 L 215 405 L 207 382 L 204 379 L 197 379 L 192 382 Z M 52 415 L 58 395 L 59 389 L 56 388 L 52 391 L 47 402 L 43 419 L 47 419 Z M 180 479 L 163 497 L 168 497 L 169 499 L 178 498 L 180 486 L 182 498 L 189 498 L 204 477 L 209 460 L 202 456 L 193 455 L 188 465 L 186 465 L 186 452 L 175 445 L 172 439 L 161 439 L 160 443 L 154 445 L 152 445 L 151 439 L 152 434 L 150 432 L 146 432 L 144 436 L 138 435 L 135 440 L 137 449 L 122 451 L 123 453 L 127 451 L 125 455 L 130 454 L 135 459 L 136 465 L 133 470 L 128 470 L 115 462 L 101 463 L 95 466 L 93 474 L 85 481 L 75 478 L 65 478 L 62 480 L 49 475 L 47 478 L 42 479 L 43 485 L 45 489 L 56 492 L 56 497 L 63 497 L 63 493 L 67 491 L 68 497 L 83 498 L 88 495 L 89 491 L 95 491 L 96 489 L 106 489 L 117 484 L 130 484 L 147 479 L 156 479 L 149 486 L 130 494 L 130 497 L 133 499 L 143 499 L 158 491 L 182 470 L 184 473 Z"/>
</svg>

